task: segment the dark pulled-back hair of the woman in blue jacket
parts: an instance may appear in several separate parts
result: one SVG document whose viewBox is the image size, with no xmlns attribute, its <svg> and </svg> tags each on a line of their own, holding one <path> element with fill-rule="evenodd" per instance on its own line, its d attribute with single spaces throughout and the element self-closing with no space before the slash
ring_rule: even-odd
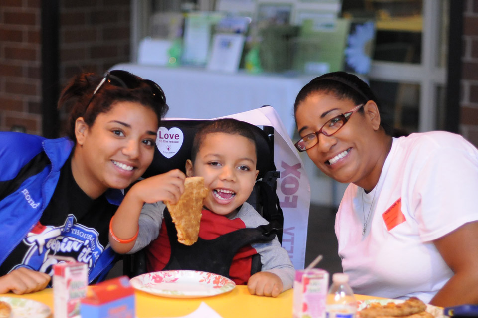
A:
<svg viewBox="0 0 478 318">
<path fill-rule="evenodd" d="M 92 98 L 93 92 L 103 79 L 94 73 L 82 73 L 70 80 L 63 89 L 58 100 L 58 108 L 68 113 L 64 134 L 76 142 L 75 122 L 83 117 L 88 126 L 95 123 L 100 113 L 111 110 L 116 102 L 130 101 L 152 109 L 158 118 L 158 124 L 168 111 L 166 103 L 158 103 L 153 98 L 153 91 L 149 84 L 142 82 L 137 88 L 117 87 L 105 82 Z M 90 104 L 88 102 L 90 101 Z"/>
</svg>

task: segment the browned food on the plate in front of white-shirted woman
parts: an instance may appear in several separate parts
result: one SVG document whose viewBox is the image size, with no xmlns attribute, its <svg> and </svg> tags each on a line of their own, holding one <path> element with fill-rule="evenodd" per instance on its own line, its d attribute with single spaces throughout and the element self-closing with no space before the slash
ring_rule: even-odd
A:
<svg viewBox="0 0 478 318">
<path fill-rule="evenodd" d="M 372 303 L 359 311 L 361 318 L 433 318 L 425 310 L 427 305 L 416 297 L 410 297 L 403 303 L 389 302 L 385 305 Z"/>
</svg>

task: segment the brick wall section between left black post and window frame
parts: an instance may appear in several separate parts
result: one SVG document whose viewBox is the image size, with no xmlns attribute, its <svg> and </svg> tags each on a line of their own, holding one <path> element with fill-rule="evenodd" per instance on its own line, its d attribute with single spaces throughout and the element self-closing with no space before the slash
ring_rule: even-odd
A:
<svg viewBox="0 0 478 318">
<path fill-rule="evenodd" d="M 130 0 L 60 0 L 62 83 L 129 61 Z"/>
</svg>

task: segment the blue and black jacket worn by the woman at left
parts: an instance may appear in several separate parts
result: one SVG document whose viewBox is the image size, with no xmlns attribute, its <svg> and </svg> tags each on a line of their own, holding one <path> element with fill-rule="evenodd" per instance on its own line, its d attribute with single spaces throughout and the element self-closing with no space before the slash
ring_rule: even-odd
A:
<svg viewBox="0 0 478 318">
<path fill-rule="evenodd" d="M 0 132 L 0 264 L 40 220 L 73 147 L 74 142 L 68 138 Z M 111 204 L 119 205 L 122 193 L 110 189 L 106 197 Z M 89 282 L 103 280 L 116 257 L 108 245 L 96 261 Z"/>
</svg>

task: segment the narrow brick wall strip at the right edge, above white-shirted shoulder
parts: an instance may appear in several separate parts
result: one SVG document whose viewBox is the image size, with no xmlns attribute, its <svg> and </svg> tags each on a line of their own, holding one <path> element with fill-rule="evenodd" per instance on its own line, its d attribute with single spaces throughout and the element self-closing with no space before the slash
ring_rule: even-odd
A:
<svg viewBox="0 0 478 318">
<path fill-rule="evenodd" d="M 478 146 L 478 0 L 463 8 L 460 134 Z"/>
</svg>

